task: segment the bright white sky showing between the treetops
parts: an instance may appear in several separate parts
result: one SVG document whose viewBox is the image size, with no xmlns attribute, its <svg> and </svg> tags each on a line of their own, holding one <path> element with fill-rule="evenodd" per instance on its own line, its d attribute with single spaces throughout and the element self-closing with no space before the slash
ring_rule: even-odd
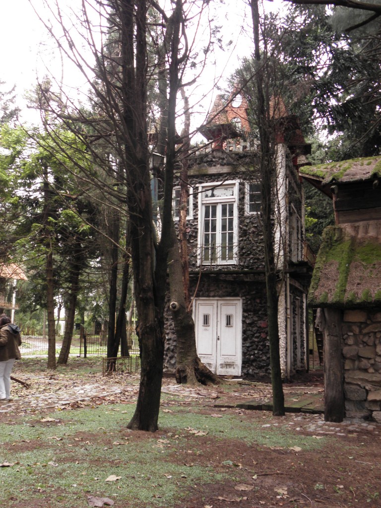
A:
<svg viewBox="0 0 381 508">
<path fill-rule="evenodd" d="M 80 5 L 79 0 L 60 0 L 60 5 L 65 3 L 72 3 L 73 5 Z M 42 9 L 41 0 L 33 0 L 37 8 Z M 275 0 L 273 3 L 266 2 L 266 8 L 275 9 L 280 5 L 280 0 Z M 213 3 L 212 3 L 213 4 Z M 239 57 L 248 56 L 250 54 L 250 42 L 248 39 L 244 40 L 244 36 L 239 34 L 240 26 L 242 24 L 242 17 L 244 12 L 244 2 L 226 0 L 226 4 L 218 4 L 218 19 L 214 20 L 215 24 L 224 25 L 224 40 L 227 42 L 232 39 L 234 42 L 232 47 L 235 48 L 234 55 L 228 58 L 229 52 L 219 52 L 216 55 L 216 65 L 209 65 L 204 77 L 198 82 L 196 93 L 209 91 L 212 89 L 214 76 L 223 74 L 226 78 L 231 75 L 235 68 L 238 67 Z M 242 8 L 241 8 L 241 7 Z M 244 21 L 250 32 L 251 20 Z M 237 45 L 237 38 L 239 43 Z M 24 90 L 31 89 L 35 86 L 37 81 L 37 69 L 40 79 L 46 73 L 46 68 L 42 62 L 39 53 L 43 53 L 43 59 L 48 61 L 49 70 L 56 66 L 56 73 L 60 74 L 59 58 L 51 60 L 49 55 L 49 39 L 45 33 L 45 29 L 29 4 L 29 0 L 0 0 L 0 81 L 5 81 L 6 85 L 2 85 L 2 91 L 12 88 L 16 85 L 16 92 L 18 93 L 18 105 L 24 111 L 22 116 L 25 116 L 25 102 L 21 99 Z M 50 59 L 50 61 L 49 61 Z M 67 73 L 68 74 L 68 73 Z M 77 83 L 74 83 L 77 80 Z M 68 75 L 65 76 L 65 81 L 68 82 Z M 73 84 L 80 86 L 81 78 L 77 75 L 73 78 Z M 82 78 L 82 85 L 84 80 Z M 223 83 L 221 83 L 223 84 Z M 211 94 L 209 104 L 214 100 L 215 92 Z M 203 106 L 207 109 L 209 104 Z"/>
</svg>

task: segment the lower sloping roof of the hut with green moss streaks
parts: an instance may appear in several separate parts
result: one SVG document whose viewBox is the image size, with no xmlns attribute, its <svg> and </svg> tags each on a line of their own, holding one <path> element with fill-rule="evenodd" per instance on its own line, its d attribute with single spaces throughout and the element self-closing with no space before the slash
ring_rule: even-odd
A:
<svg viewBox="0 0 381 508">
<path fill-rule="evenodd" d="M 308 302 L 312 307 L 381 305 L 381 221 L 325 230 Z"/>
</svg>

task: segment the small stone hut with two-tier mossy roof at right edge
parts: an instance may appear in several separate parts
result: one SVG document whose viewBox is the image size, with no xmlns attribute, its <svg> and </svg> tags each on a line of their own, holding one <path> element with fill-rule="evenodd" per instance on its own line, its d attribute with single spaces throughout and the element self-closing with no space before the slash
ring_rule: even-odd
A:
<svg viewBox="0 0 381 508">
<path fill-rule="evenodd" d="M 335 212 L 309 291 L 324 336 L 325 418 L 381 423 L 381 157 L 301 172 Z"/>
</svg>

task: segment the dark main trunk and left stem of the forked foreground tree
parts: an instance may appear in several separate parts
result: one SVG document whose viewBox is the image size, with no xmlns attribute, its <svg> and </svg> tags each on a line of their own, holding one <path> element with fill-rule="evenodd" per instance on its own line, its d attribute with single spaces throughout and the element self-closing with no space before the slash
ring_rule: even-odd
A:
<svg viewBox="0 0 381 508">
<path fill-rule="evenodd" d="M 126 127 L 123 156 L 141 352 L 138 401 L 128 427 L 154 432 L 157 430 L 163 377 L 164 298 L 160 298 L 154 277 L 155 235 L 146 126 L 147 5 L 144 0 L 125 0 L 117 6 L 121 26 L 123 123 Z M 163 228 L 162 235 L 165 234 L 164 225 Z M 165 257 L 163 260 L 166 262 Z"/>
</svg>

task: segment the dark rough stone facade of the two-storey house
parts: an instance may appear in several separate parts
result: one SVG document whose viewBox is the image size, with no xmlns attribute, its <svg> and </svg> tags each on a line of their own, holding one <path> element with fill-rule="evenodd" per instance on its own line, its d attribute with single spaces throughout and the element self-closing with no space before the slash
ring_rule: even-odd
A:
<svg viewBox="0 0 381 508">
<path fill-rule="evenodd" d="M 263 237 L 262 226 L 259 213 L 248 213 L 246 206 L 247 185 L 249 182 L 258 180 L 256 175 L 257 157 L 253 153 L 245 152 L 225 152 L 223 150 L 213 150 L 205 153 L 198 153 L 192 161 L 189 169 L 188 184 L 190 193 L 193 194 L 192 210 L 188 213 L 187 220 L 187 239 L 190 270 L 190 294 L 194 295 L 196 288 L 196 298 L 240 298 L 242 300 L 242 364 L 241 375 L 245 377 L 268 377 L 270 375 L 270 353 L 268 343 L 268 325 L 267 325 L 267 303 L 266 303 L 266 284 L 265 284 L 265 266 L 263 256 Z M 287 235 L 288 241 L 279 242 L 285 251 L 281 253 L 280 263 L 283 268 L 289 267 L 290 235 L 287 215 L 293 210 L 298 213 L 300 218 L 303 214 L 303 194 L 302 186 L 298 178 L 298 173 L 293 167 L 289 157 L 283 154 L 284 178 L 281 179 L 283 189 L 282 235 Z M 287 181 L 287 184 L 286 184 Z M 202 185 L 213 184 L 215 182 L 237 182 L 237 259 L 232 264 L 210 264 L 200 267 L 200 189 Z M 175 185 L 179 183 L 175 182 Z M 275 227 L 275 221 L 274 221 Z M 297 240 L 300 245 L 303 244 L 302 233 L 300 230 Z M 298 265 L 301 257 L 293 266 Z M 290 270 L 289 270 L 290 271 Z M 280 269 L 280 273 L 282 269 Z M 281 298 L 279 299 L 280 312 L 284 314 L 283 322 L 279 320 L 281 326 L 281 366 L 285 377 L 295 372 L 296 368 L 306 369 L 306 326 L 305 326 L 305 301 L 308 282 L 296 280 L 292 274 L 289 276 L 288 293 L 285 290 L 284 277 L 279 278 L 279 284 L 283 284 L 281 289 Z M 309 281 L 309 280 L 308 280 Z M 298 301 L 298 305 L 293 305 L 291 312 L 287 311 L 286 300 Z M 169 302 L 168 302 L 169 303 Z M 166 306 L 168 309 L 168 305 Z M 299 309 L 299 315 L 297 311 Z M 290 316 L 289 318 L 287 316 Z M 290 322 L 287 320 L 290 319 Z M 287 338 L 287 334 L 292 333 L 292 338 Z M 166 371 L 173 372 L 176 368 L 176 339 L 170 311 L 166 316 L 166 345 L 165 345 L 165 364 Z M 284 337 L 284 339 L 283 339 Z M 291 354 L 288 348 L 292 348 Z M 292 365 L 286 368 L 286 357 L 290 358 Z"/>
</svg>

